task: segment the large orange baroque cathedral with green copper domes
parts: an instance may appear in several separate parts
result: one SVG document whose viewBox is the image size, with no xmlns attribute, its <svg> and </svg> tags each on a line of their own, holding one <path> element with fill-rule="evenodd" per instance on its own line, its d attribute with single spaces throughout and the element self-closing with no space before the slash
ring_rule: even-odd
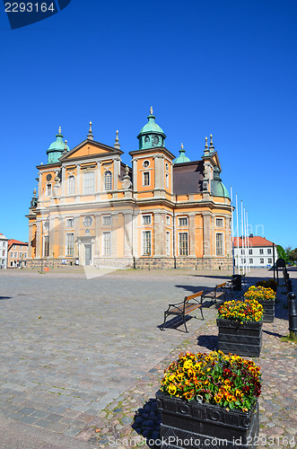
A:
<svg viewBox="0 0 297 449">
<path fill-rule="evenodd" d="M 28 267 L 231 268 L 231 200 L 213 137 L 200 160 L 191 162 L 183 145 L 176 158 L 153 108 L 147 119 L 131 166 L 118 131 L 113 146 L 102 144 L 90 122 L 70 149 L 59 128 L 48 163 L 37 166 Z"/>
</svg>

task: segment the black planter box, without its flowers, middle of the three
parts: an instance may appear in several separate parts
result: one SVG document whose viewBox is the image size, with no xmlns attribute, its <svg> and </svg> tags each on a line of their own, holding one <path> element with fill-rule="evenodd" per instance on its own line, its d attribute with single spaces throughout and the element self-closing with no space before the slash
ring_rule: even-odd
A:
<svg viewBox="0 0 297 449">
<path fill-rule="evenodd" d="M 262 321 L 223 320 L 218 318 L 218 348 L 224 353 L 238 356 L 259 357 L 262 348 Z"/>
</svg>

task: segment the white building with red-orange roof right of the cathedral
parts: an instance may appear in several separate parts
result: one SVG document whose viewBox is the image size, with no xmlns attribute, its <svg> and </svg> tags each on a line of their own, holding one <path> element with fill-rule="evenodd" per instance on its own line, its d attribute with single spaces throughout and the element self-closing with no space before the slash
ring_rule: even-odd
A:
<svg viewBox="0 0 297 449">
<path fill-rule="evenodd" d="M 244 238 L 243 242 L 241 237 L 239 238 L 239 248 L 237 237 L 234 237 L 234 263 L 235 267 L 240 267 L 249 264 L 250 268 L 267 268 L 273 267 L 274 265 L 274 249 L 273 242 L 269 242 L 265 237 L 249 235 L 246 239 L 246 248 L 244 248 Z M 248 248 L 247 248 L 248 246 Z M 277 260 L 277 251 L 275 245 L 275 262 Z"/>
</svg>

